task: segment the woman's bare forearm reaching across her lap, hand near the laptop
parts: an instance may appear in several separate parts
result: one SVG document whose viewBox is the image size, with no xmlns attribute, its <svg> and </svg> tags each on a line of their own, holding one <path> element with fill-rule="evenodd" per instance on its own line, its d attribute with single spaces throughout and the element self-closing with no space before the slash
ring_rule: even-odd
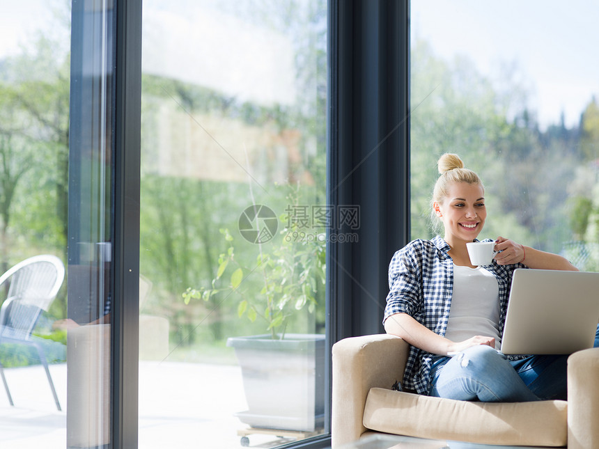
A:
<svg viewBox="0 0 599 449">
<path fill-rule="evenodd" d="M 388 317 L 384 322 L 384 330 L 391 335 L 403 338 L 412 346 L 441 356 L 446 356 L 449 352 L 460 352 L 475 345 L 495 347 L 495 338 L 485 336 L 474 336 L 462 342 L 453 342 L 437 335 L 407 313 L 396 313 Z"/>
</svg>

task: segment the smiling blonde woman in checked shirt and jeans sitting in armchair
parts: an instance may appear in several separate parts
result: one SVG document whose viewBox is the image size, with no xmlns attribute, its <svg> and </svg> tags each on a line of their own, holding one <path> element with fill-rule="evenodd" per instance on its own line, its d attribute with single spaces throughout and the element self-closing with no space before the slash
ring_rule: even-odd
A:
<svg viewBox="0 0 599 449">
<path fill-rule="evenodd" d="M 485 224 L 483 184 L 457 155 L 443 155 L 438 167 L 432 214 L 444 238 L 414 240 L 389 265 L 384 328 L 411 345 L 399 388 L 483 402 L 565 399 L 567 356 L 506 357 L 496 349 L 513 271 L 576 267 L 504 237 L 495 240 L 492 265 L 472 265 L 466 243 Z"/>
</svg>

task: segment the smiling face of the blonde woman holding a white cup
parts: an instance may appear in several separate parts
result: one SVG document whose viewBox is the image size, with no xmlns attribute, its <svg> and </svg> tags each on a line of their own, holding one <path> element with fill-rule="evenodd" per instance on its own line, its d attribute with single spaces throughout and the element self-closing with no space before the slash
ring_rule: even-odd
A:
<svg viewBox="0 0 599 449">
<path fill-rule="evenodd" d="M 435 214 L 443 221 L 445 241 L 451 247 L 472 242 L 483 230 L 487 210 L 481 184 L 453 182 L 447 196 L 433 204 Z"/>
</svg>

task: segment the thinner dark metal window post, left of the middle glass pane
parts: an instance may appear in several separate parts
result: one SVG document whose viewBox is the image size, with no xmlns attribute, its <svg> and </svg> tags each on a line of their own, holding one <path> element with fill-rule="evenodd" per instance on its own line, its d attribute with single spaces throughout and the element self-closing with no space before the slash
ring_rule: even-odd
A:
<svg viewBox="0 0 599 449">
<path fill-rule="evenodd" d="M 112 447 L 137 448 L 139 391 L 139 214 L 141 0 L 114 0 L 114 248 Z"/>
</svg>

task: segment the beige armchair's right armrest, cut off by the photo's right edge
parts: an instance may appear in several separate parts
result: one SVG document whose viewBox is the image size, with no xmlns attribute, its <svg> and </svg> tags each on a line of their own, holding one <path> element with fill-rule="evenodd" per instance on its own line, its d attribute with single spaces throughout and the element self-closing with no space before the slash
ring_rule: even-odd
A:
<svg viewBox="0 0 599 449">
<path fill-rule="evenodd" d="M 599 448 L 599 348 L 568 357 L 568 449 Z"/>
</svg>

